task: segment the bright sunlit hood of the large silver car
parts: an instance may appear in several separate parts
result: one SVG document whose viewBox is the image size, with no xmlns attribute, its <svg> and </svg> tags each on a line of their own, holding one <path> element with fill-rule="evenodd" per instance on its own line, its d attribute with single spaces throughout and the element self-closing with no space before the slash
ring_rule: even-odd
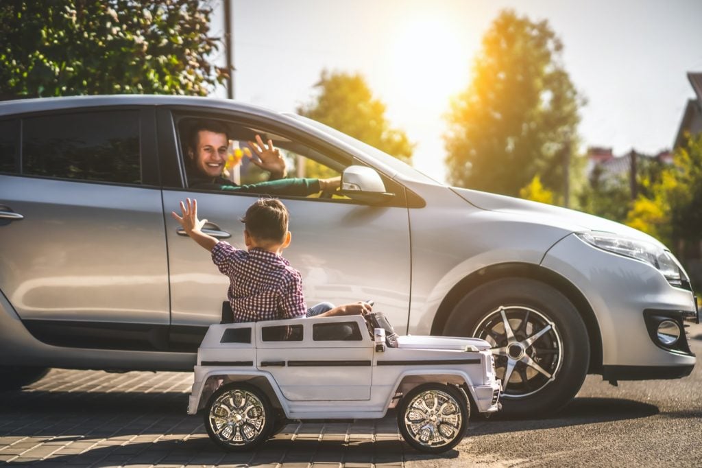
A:
<svg viewBox="0 0 702 468">
<path fill-rule="evenodd" d="M 480 209 L 515 214 L 517 216 L 528 216 L 529 219 L 536 223 L 557 226 L 573 232 L 587 230 L 604 231 L 661 245 L 661 242 L 658 242 L 658 240 L 652 238 L 648 234 L 642 233 L 640 230 L 630 228 L 621 223 L 609 221 L 609 219 L 600 218 L 599 216 L 578 212 L 574 209 L 556 207 L 552 204 L 532 202 L 531 200 L 522 200 L 521 198 L 507 197 L 505 195 L 496 195 L 494 193 L 480 192 L 479 190 L 470 190 L 468 188 L 451 187 L 451 190 L 463 198 L 463 200 Z"/>
</svg>

